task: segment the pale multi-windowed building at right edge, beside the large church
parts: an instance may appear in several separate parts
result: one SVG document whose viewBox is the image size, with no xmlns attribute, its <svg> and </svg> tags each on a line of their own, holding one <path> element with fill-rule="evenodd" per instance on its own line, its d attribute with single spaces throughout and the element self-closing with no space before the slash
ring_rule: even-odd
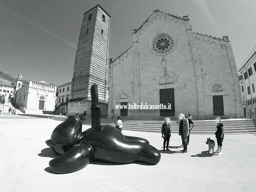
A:
<svg viewBox="0 0 256 192">
<path fill-rule="evenodd" d="M 256 46 L 239 66 L 244 118 L 256 118 Z"/>
</svg>

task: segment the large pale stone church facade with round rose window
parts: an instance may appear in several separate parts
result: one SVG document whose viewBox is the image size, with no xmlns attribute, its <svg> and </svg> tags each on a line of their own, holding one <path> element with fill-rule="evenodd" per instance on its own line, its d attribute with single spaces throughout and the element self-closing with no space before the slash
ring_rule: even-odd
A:
<svg viewBox="0 0 256 192">
<path fill-rule="evenodd" d="M 133 30 L 133 46 L 109 64 L 108 118 L 240 118 L 241 92 L 228 36 L 192 32 L 188 16 L 155 10 Z M 169 109 L 120 109 L 119 105 Z"/>
</svg>

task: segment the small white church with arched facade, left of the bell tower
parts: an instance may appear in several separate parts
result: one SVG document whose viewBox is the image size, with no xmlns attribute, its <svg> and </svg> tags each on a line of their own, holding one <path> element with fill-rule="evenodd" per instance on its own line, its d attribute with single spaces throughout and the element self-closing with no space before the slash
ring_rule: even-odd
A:
<svg viewBox="0 0 256 192">
<path fill-rule="evenodd" d="M 45 81 L 29 81 L 15 93 L 15 104 L 28 110 L 54 111 L 57 86 Z M 23 111 L 23 112 L 24 112 Z"/>
</svg>

